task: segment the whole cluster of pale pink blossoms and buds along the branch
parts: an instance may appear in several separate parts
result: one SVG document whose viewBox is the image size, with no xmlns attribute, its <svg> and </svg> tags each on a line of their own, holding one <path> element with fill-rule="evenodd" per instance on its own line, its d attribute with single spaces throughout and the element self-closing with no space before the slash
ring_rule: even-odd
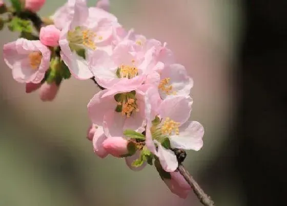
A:
<svg viewBox="0 0 287 206">
<path fill-rule="evenodd" d="M 44 2 L 26 0 L 25 8 L 35 12 Z M 38 40 L 5 44 L 5 62 L 26 92 L 40 88 L 44 101 L 71 75 L 94 79 L 102 88 L 88 103 L 94 152 L 124 157 L 135 171 L 154 165 L 170 190 L 186 198 L 191 186 L 177 168 L 185 150 L 202 147 L 204 133 L 189 121 L 193 80 L 166 43 L 126 31 L 108 8 L 107 0 L 90 8 L 86 0 L 69 0 Z"/>
</svg>

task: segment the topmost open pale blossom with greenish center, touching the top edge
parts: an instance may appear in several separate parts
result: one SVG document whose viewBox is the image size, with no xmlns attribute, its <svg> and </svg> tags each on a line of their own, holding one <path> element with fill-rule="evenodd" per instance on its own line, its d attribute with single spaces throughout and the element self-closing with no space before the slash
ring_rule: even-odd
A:
<svg viewBox="0 0 287 206">
<path fill-rule="evenodd" d="M 59 39 L 61 58 L 71 74 L 82 80 L 93 77 L 86 60 L 90 53 L 95 50 L 111 53 L 114 27 L 119 27 L 117 22 L 107 18 L 91 20 L 91 16 L 86 1 L 76 0 L 73 18 L 61 31 Z"/>
</svg>

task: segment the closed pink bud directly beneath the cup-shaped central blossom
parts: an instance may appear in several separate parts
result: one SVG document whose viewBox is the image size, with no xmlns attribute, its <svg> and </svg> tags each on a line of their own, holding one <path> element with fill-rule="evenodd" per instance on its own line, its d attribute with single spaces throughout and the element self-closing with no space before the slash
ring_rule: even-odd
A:
<svg viewBox="0 0 287 206">
<path fill-rule="evenodd" d="M 115 157 L 128 154 L 128 141 L 121 137 L 108 138 L 103 142 L 104 149 Z"/>
</svg>

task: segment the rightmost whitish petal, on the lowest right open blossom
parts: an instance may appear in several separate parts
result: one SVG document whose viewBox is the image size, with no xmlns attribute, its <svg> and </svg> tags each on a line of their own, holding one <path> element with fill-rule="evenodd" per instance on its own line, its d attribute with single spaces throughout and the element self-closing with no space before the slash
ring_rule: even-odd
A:
<svg viewBox="0 0 287 206">
<path fill-rule="evenodd" d="M 170 136 L 172 148 L 198 151 L 203 146 L 203 126 L 197 121 L 188 121 L 179 127 L 179 135 Z"/>
</svg>

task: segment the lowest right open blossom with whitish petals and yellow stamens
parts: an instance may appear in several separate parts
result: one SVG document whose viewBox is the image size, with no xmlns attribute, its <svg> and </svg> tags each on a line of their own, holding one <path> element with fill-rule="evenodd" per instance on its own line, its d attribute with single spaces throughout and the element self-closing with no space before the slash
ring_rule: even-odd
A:
<svg viewBox="0 0 287 206">
<path fill-rule="evenodd" d="M 173 172 L 178 162 L 170 147 L 197 151 L 203 145 L 204 130 L 199 122 L 188 121 L 192 105 L 191 97 L 176 96 L 163 100 L 158 108 L 158 116 L 154 119 L 151 115 L 152 106 L 149 103 L 148 93 L 149 91 L 145 97 L 146 145 L 158 157 L 162 168 L 167 172 Z"/>
</svg>

